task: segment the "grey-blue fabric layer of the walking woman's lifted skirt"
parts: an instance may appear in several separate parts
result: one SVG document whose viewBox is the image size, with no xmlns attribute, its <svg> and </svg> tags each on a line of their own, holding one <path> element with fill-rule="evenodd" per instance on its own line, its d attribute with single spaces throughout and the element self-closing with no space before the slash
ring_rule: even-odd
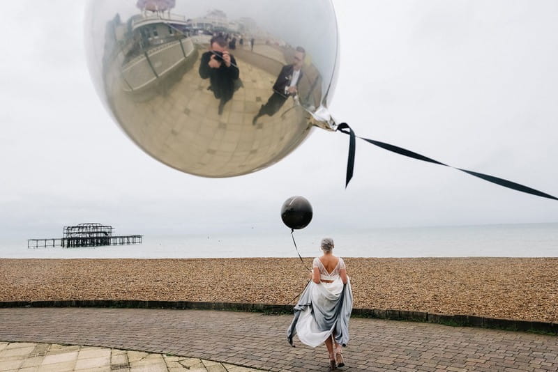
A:
<svg viewBox="0 0 558 372">
<path fill-rule="evenodd" d="M 330 302 L 329 306 L 324 309 L 319 309 L 312 304 L 312 289 L 314 286 L 319 286 L 319 284 L 310 281 L 306 288 L 304 288 L 303 293 L 301 293 L 299 302 L 294 307 L 294 319 L 287 330 L 287 340 L 294 346 L 292 338 L 296 334 L 296 323 L 299 321 L 301 311 L 306 309 L 306 307 L 310 307 L 319 330 L 326 331 L 335 327 L 335 342 L 340 343 L 342 346 L 347 346 L 347 343 L 349 343 L 349 318 L 351 318 L 351 311 L 353 309 L 351 282 L 347 280 L 347 284 L 343 285 L 339 299 L 335 302 Z"/>
</svg>

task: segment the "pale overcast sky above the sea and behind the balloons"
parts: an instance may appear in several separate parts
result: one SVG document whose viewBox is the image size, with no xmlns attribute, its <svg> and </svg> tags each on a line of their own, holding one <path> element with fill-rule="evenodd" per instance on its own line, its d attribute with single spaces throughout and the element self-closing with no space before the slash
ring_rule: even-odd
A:
<svg viewBox="0 0 558 372">
<path fill-rule="evenodd" d="M 558 195 L 558 2 L 333 1 L 341 61 L 331 112 L 362 137 Z M 80 222 L 118 233 L 279 231 L 306 196 L 313 228 L 558 222 L 558 202 L 316 129 L 236 178 L 190 176 L 112 122 L 86 67 L 83 1 L 3 3 L 0 238 Z M 1 240 L 1 239 L 0 239 Z"/>
</svg>

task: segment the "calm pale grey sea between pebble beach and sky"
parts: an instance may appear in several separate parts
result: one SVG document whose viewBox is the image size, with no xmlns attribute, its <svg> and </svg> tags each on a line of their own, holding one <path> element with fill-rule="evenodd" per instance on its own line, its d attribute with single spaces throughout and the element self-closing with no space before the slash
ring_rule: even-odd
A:
<svg viewBox="0 0 558 372">
<path fill-rule="evenodd" d="M 325 236 L 342 257 L 558 257 L 558 223 L 370 228 L 317 233 L 144 235 L 140 245 L 27 248 L 1 240 L 0 258 L 234 258 L 319 256 Z M 34 238 L 34 237 L 33 237 Z M 294 238 L 294 242 L 293 242 Z M 294 243 L 296 242 L 296 247 Z"/>
</svg>

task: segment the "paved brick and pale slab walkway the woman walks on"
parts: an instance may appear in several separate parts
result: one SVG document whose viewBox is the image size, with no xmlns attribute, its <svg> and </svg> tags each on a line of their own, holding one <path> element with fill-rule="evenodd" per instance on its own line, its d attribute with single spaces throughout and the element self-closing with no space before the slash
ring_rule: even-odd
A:
<svg viewBox="0 0 558 372">
<path fill-rule="evenodd" d="M 91 355 L 105 352 L 107 360 L 105 349 L 81 346 L 128 355 L 128 364 L 123 361 L 112 371 L 326 371 L 323 346 L 308 348 L 296 338 L 296 348 L 289 346 L 285 330 L 291 320 L 288 315 L 207 310 L 0 309 L 0 371 L 18 371 L 20 366 L 9 362 L 14 355 L 25 356 L 25 348 L 29 357 L 43 348 L 36 354 L 46 359 L 50 349 L 56 354 L 61 345 L 74 346 L 67 349 L 74 357 L 84 350 Z M 349 329 L 342 371 L 558 371 L 557 336 L 364 318 L 352 318 Z M 130 362 L 149 358 L 170 358 L 167 369 Z M 54 371 L 48 368 L 39 364 L 21 371 Z"/>
</svg>

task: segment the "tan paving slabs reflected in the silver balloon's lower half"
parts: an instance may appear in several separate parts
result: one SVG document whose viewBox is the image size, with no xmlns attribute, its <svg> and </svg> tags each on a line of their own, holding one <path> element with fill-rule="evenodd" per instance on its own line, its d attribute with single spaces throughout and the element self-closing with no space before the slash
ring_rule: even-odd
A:
<svg viewBox="0 0 558 372">
<path fill-rule="evenodd" d="M 274 63 L 276 68 L 285 61 L 277 49 L 258 49 L 280 59 Z M 276 76 L 248 63 L 252 52 L 239 52 L 232 53 L 242 86 L 221 115 L 219 100 L 208 90 L 209 81 L 199 77 L 199 59 L 179 81 L 149 100 L 142 99 L 145 92 L 130 99 L 121 80 L 114 84 L 114 111 L 124 130 L 147 153 L 202 176 L 236 176 L 280 160 L 310 132 L 308 114 L 294 100 L 287 100 L 277 114 L 263 116 L 252 125 L 252 118 L 272 93 Z"/>
</svg>

